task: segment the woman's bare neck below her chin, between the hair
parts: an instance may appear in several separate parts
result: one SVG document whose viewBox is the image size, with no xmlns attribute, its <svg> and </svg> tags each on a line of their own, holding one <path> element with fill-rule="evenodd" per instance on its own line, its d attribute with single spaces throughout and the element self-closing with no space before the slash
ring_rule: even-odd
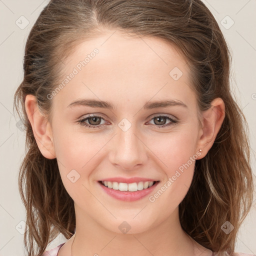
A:
<svg viewBox="0 0 256 256">
<path fill-rule="evenodd" d="M 123 256 L 211 255 L 211 251 L 196 243 L 183 231 L 178 219 L 178 211 L 175 211 L 173 215 L 144 232 L 123 234 L 111 232 L 88 216 L 83 215 L 79 218 L 77 214 L 71 256 L 117 256 L 120 253 Z"/>
</svg>

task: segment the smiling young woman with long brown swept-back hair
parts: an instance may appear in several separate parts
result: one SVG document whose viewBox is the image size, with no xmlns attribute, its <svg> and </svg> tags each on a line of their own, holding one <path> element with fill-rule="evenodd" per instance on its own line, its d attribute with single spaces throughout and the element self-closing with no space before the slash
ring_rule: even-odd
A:
<svg viewBox="0 0 256 256">
<path fill-rule="evenodd" d="M 51 0 L 15 93 L 28 255 L 244 255 L 253 183 L 229 65 L 200 0 Z"/>
</svg>

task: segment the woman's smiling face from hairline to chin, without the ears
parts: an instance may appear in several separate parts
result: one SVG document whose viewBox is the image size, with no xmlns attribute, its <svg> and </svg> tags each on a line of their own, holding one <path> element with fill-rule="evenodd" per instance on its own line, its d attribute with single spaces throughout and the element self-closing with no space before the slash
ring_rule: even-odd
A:
<svg viewBox="0 0 256 256">
<path fill-rule="evenodd" d="M 49 95 L 51 128 L 76 220 L 119 233 L 126 221 L 136 233 L 177 216 L 200 155 L 197 105 L 174 46 L 113 32 L 79 43 L 64 60 L 62 86 Z"/>
</svg>

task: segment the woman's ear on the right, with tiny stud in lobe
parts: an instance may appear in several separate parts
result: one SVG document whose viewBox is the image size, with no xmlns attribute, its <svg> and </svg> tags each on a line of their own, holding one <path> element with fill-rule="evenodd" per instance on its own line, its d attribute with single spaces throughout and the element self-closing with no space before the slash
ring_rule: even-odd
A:
<svg viewBox="0 0 256 256">
<path fill-rule="evenodd" d="M 203 158 L 213 145 L 224 117 L 225 104 L 221 98 L 213 99 L 210 108 L 202 112 L 202 127 L 199 129 L 197 144 L 197 148 L 202 152 L 197 159 Z"/>
</svg>

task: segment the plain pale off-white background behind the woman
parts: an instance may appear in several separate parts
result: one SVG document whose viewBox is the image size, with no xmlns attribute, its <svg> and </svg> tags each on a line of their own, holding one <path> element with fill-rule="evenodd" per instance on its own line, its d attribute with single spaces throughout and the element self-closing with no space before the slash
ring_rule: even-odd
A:
<svg viewBox="0 0 256 256">
<path fill-rule="evenodd" d="M 203 0 L 215 16 L 232 54 L 231 85 L 250 130 L 255 178 L 256 0 Z M 0 256 L 24 254 L 25 210 L 18 192 L 18 168 L 25 134 L 12 112 L 13 94 L 22 81 L 22 59 L 28 33 L 48 0 L 0 0 Z M 255 179 L 254 179 L 255 181 Z M 236 251 L 256 254 L 256 207 L 243 222 Z M 59 235 L 48 249 L 66 239 Z"/>
</svg>

